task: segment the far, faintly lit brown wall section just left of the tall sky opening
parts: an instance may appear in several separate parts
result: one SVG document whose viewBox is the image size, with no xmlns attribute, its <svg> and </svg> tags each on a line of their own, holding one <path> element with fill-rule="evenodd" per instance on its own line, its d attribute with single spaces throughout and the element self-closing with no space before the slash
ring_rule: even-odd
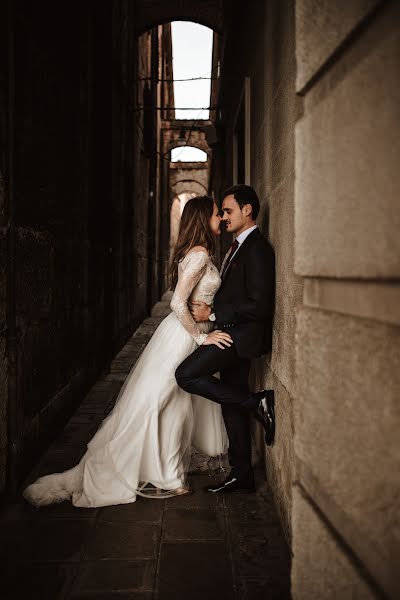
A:
<svg viewBox="0 0 400 600">
<path fill-rule="evenodd" d="M 167 287 L 169 256 L 169 156 L 163 136 L 163 117 L 171 119 L 172 109 L 155 110 L 167 101 L 173 106 L 173 90 L 161 84 L 164 72 L 172 76 L 170 25 L 145 32 L 136 40 L 136 107 L 134 120 L 134 222 L 136 236 L 135 306 L 144 316 Z M 162 67 L 168 62 L 168 69 Z M 168 94 L 163 87 L 167 88 Z"/>
</svg>

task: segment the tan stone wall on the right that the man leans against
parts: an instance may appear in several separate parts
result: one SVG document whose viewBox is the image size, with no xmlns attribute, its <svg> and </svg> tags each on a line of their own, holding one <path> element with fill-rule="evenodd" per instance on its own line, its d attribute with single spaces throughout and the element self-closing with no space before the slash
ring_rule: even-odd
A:
<svg viewBox="0 0 400 600">
<path fill-rule="evenodd" d="M 246 177 L 277 273 L 252 384 L 276 392 L 266 467 L 296 599 L 398 595 L 399 22 L 367 0 L 235 3 L 226 21 L 211 186 L 232 183 L 248 77 Z"/>
</svg>

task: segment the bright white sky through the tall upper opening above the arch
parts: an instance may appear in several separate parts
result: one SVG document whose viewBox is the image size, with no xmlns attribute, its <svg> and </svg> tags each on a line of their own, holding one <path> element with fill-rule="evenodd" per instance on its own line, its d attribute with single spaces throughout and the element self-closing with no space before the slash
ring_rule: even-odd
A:
<svg viewBox="0 0 400 600">
<path fill-rule="evenodd" d="M 186 21 L 171 23 L 172 64 L 174 79 L 211 77 L 212 29 Z M 208 119 L 211 81 L 175 81 L 175 116 L 177 119 Z M 197 110 L 179 110 L 194 107 Z"/>
</svg>

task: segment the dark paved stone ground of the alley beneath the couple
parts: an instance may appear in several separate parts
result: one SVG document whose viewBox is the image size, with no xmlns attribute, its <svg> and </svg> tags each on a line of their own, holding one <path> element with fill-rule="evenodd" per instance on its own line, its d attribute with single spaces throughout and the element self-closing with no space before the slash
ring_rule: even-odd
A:
<svg viewBox="0 0 400 600">
<path fill-rule="evenodd" d="M 155 307 L 31 478 L 76 464 L 166 310 Z M 9 506 L 0 519 L 0 597 L 288 600 L 289 551 L 262 472 L 256 494 L 203 492 L 223 476 L 217 460 L 198 457 L 191 496 L 101 509 Z"/>
</svg>

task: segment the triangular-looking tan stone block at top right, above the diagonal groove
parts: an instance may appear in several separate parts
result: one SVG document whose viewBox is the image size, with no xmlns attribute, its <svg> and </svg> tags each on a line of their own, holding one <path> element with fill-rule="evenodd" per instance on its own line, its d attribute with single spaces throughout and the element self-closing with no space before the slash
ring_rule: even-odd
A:
<svg viewBox="0 0 400 600">
<path fill-rule="evenodd" d="M 297 91 L 301 91 L 379 0 L 296 2 Z"/>
</svg>

